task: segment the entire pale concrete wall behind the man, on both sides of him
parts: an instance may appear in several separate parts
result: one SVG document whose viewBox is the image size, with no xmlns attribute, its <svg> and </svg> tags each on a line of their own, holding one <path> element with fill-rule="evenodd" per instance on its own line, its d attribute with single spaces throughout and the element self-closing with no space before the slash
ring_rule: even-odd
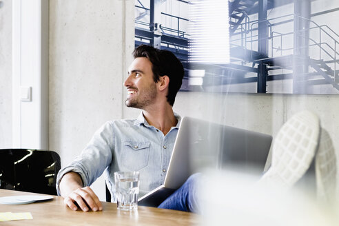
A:
<svg viewBox="0 0 339 226">
<path fill-rule="evenodd" d="M 11 1 L 0 8 L 0 148 L 11 145 Z M 134 48 L 134 1 L 50 1 L 50 150 L 68 164 L 107 120 L 134 118 L 123 105 Z M 339 152 L 339 96 L 179 92 L 181 115 L 275 135 L 300 110 L 320 116 Z M 94 184 L 104 198 L 102 178 Z"/>
</svg>

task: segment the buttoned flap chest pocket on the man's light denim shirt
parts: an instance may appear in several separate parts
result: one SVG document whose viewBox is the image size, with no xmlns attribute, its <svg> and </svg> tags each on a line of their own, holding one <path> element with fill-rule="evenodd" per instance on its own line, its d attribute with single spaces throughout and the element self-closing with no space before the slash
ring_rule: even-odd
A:
<svg viewBox="0 0 339 226">
<path fill-rule="evenodd" d="M 121 165 L 132 171 L 138 171 L 148 165 L 150 142 L 125 141 L 121 152 Z"/>
</svg>

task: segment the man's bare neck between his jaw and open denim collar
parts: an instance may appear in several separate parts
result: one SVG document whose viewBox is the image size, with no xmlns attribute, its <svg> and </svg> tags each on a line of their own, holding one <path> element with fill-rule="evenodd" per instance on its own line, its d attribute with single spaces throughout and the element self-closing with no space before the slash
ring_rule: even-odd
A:
<svg viewBox="0 0 339 226">
<path fill-rule="evenodd" d="M 154 109 L 143 110 L 143 116 L 150 125 L 161 130 L 164 135 L 170 132 L 171 127 L 176 126 L 178 121 L 174 116 L 172 106 L 169 103 Z"/>
</svg>

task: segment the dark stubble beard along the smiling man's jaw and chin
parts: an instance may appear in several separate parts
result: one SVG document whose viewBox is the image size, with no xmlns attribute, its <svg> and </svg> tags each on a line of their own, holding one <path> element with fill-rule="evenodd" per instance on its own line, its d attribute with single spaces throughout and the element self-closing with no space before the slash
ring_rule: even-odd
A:
<svg viewBox="0 0 339 226">
<path fill-rule="evenodd" d="M 156 84 L 152 83 L 147 90 L 143 90 L 138 96 L 127 98 L 125 105 L 127 107 L 134 107 L 144 109 L 148 105 L 154 103 L 156 99 Z"/>
</svg>

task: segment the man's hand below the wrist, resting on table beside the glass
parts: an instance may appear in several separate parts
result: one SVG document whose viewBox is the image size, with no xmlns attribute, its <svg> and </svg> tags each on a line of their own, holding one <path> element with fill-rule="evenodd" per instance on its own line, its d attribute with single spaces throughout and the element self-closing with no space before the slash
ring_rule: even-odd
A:
<svg viewBox="0 0 339 226">
<path fill-rule="evenodd" d="M 103 209 L 98 196 L 94 194 L 90 187 L 76 189 L 66 196 L 63 202 L 73 210 L 78 209 L 76 206 L 78 205 L 83 212 L 88 212 L 90 209 L 94 212 Z"/>
</svg>

